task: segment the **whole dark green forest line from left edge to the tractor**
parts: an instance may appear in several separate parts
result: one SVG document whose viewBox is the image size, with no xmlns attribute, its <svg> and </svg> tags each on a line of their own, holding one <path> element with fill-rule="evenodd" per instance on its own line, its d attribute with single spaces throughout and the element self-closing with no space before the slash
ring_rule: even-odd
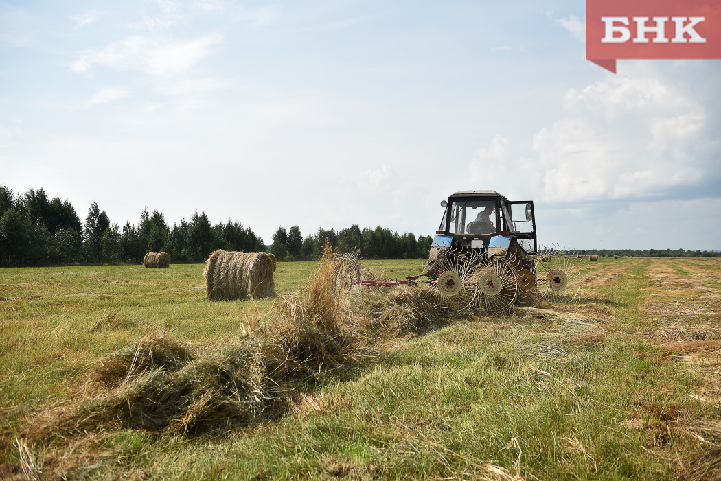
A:
<svg viewBox="0 0 721 481">
<path fill-rule="evenodd" d="M 293 225 L 278 228 L 270 252 L 279 260 L 319 259 L 325 240 L 333 248 L 359 248 L 366 259 L 427 259 L 430 236 L 398 235 L 377 227 L 326 230 L 301 234 Z M 44 189 L 14 194 L 0 186 L 0 266 L 58 264 L 140 264 L 146 252 L 165 251 L 171 262 L 205 262 L 216 249 L 265 251 L 262 238 L 241 222 L 213 225 L 205 212 L 193 212 L 190 221 L 167 225 L 161 212 L 143 209 L 138 225 L 111 222 L 97 202 L 90 204 L 84 222 L 73 204 L 48 198 Z"/>
</svg>

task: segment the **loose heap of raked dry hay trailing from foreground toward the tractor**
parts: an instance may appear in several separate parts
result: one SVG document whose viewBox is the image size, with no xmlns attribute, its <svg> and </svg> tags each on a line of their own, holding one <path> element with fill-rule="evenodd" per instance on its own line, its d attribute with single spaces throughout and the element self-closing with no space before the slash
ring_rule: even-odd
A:
<svg viewBox="0 0 721 481">
<path fill-rule="evenodd" d="M 216 263 L 224 259 L 214 255 Z M 309 282 L 284 296 L 268 327 L 254 336 L 214 349 L 149 337 L 106 356 L 86 395 L 43 431 L 144 428 L 195 435 L 247 426 L 277 417 L 309 385 L 373 356 L 378 338 L 446 323 L 430 289 L 369 290 L 363 295 L 373 296 L 376 309 L 368 317 L 354 313 L 353 298 L 335 289 L 334 262 L 327 249 Z"/>
</svg>

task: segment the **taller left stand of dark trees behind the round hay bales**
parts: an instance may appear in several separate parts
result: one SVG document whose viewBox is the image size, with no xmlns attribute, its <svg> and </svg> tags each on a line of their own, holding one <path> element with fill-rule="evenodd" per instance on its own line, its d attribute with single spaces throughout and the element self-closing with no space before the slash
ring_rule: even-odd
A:
<svg viewBox="0 0 721 481">
<path fill-rule="evenodd" d="M 213 225 L 197 211 L 170 227 L 161 212 L 144 208 L 138 225 L 121 228 L 92 202 L 81 222 L 73 204 L 49 199 L 43 189 L 13 194 L 0 186 L 0 266 L 139 264 L 158 251 L 174 262 L 204 262 L 220 248 L 265 251 L 265 243 L 241 222 Z"/>
</svg>

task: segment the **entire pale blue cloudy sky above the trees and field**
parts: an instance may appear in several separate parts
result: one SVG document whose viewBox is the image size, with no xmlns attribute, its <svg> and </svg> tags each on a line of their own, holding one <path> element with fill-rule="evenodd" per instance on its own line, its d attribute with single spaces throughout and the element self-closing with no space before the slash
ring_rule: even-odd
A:
<svg viewBox="0 0 721 481">
<path fill-rule="evenodd" d="M 492 189 L 544 246 L 721 250 L 721 60 L 617 72 L 582 0 L 0 0 L 0 184 L 267 244 Z"/>
</svg>

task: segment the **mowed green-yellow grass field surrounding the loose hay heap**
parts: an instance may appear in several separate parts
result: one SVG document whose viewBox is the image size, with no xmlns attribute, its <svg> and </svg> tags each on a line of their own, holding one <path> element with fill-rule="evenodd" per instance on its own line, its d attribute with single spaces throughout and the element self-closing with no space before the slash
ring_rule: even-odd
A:
<svg viewBox="0 0 721 481">
<path fill-rule="evenodd" d="M 278 264 L 276 290 L 316 265 Z M 403 278 L 423 262 L 363 265 Z M 0 478 L 721 479 L 721 259 L 601 258 L 571 305 L 369 340 L 244 428 L 52 432 L 109 354 L 159 336 L 221 349 L 283 302 L 205 300 L 202 273 L 0 269 Z"/>
</svg>

